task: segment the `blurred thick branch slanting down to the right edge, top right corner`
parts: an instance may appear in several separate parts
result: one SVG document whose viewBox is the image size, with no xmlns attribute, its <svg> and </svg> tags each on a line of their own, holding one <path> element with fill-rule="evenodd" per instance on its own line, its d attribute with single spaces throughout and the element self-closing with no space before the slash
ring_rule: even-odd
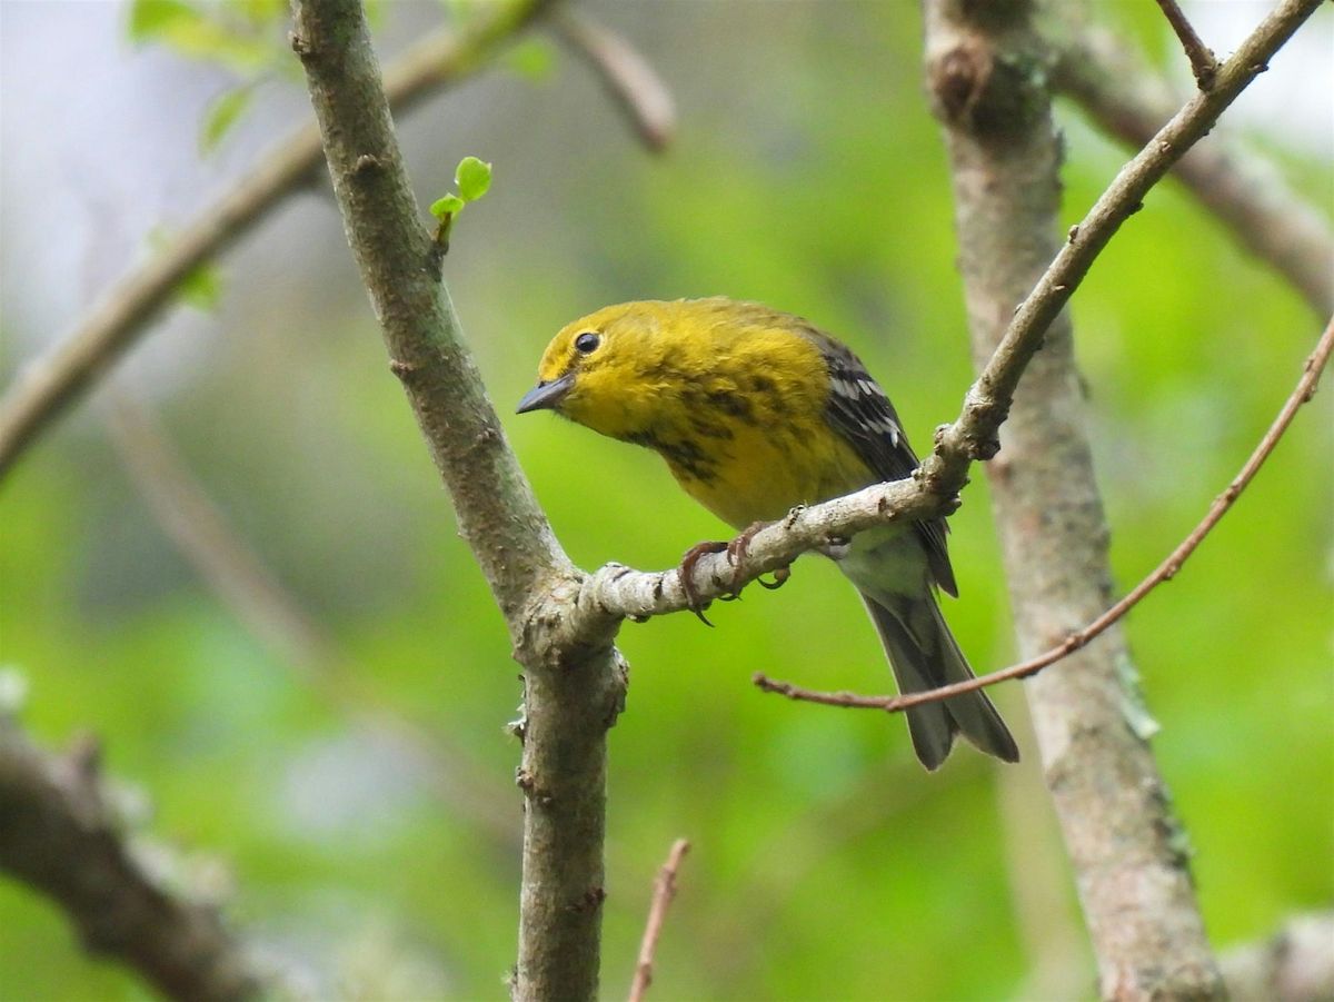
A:
<svg viewBox="0 0 1334 1002">
<path fill-rule="evenodd" d="M 1181 105 L 1174 88 L 1114 32 L 1078 17 L 1070 0 L 1047 3 L 1045 33 L 1057 53 L 1053 83 L 1103 131 L 1123 143 L 1147 143 Z M 1310 303 L 1334 312 L 1334 233 L 1314 205 L 1279 172 L 1238 148 L 1223 129 L 1173 168 L 1179 180 L 1246 247 Z"/>
</svg>

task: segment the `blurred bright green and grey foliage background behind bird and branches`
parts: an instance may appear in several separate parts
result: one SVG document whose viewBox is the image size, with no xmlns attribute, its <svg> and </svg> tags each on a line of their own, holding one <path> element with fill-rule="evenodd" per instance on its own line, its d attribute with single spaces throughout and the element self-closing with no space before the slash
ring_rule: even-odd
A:
<svg viewBox="0 0 1334 1002">
<path fill-rule="evenodd" d="M 666 156 L 644 153 L 587 68 L 555 47 L 540 80 L 496 69 L 400 132 L 423 204 L 463 155 L 495 163 L 447 280 L 563 546 L 584 567 L 660 568 L 723 528 L 651 454 L 510 414 L 550 335 L 624 299 L 764 300 L 847 340 L 920 447 L 958 412 L 968 379 L 952 208 L 915 4 L 591 9 L 675 92 L 680 131 Z M 1099 8 L 1157 60 L 1175 60 L 1155 15 Z M 384 5 L 386 48 L 439 17 L 434 5 Z M 1310 31 L 1329 39 L 1331 20 L 1323 11 Z M 111 35 L 105 45 L 144 57 Z M 264 93 L 283 100 L 279 91 Z M 1073 223 L 1123 153 L 1069 108 L 1061 123 Z M 1334 125 L 1314 145 L 1251 139 L 1330 209 Z M 284 244 L 283 232 L 299 240 Z M 355 684 L 339 683 L 342 706 L 331 700 L 192 570 L 127 476 L 97 395 L 0 494 L 0 660 L 28 682 L 23 719 L 51 747 L 100 735 L 109 773 L 151 799 L 151 835 L 192 871 L 215 861 L 205 875 L 221 867 L 235 886 L 236 927 L 313 971 L 311 994 L 503 995 L 520 823 L 518 747 L 503 730 L 518 668 L 503 623 L 387 372 L 332 203 L 299 199 L 227 259 L 223 278 L 203 334 L 160 335 L 191 352 L 131 366 L 121 392 L 157 414 Z M 1319 320 L 1171 184 L 1102 256 L 1074 312 L 1126 587 L 1235 474 Z M 4 328 L 8 382 L 36 335 Z M 1219 947 L 1334 897 L 1330 415 L 1326 387 L 1127 627 Z M 996 667 L 1014 648 L 984 478 L 952 527 L 962 599 L 946 615 L 974 664 Z M 711 618 L 715 630 L 682 615 L 622 634 L 632 684 L 610 740 L 607 997 L 628 986 L 654 873 L 680 835 L 694 850 L 654 998 L 1093 993 L 1017 687 L 998 699 L 1022 766 L 960 748 L 926 775 L 902 722 L 795 706 L 748 682 L 762 670 L 887 688 L 874 634 L 831 566 L 803 560 L 780 592 L 748 591 Z M 463 765 L 447 765 L 472 777 L 502 823 L 468 821 L 419 759 L 359 726 L 346 703 L 366 700 L 466 748 Z M 5 999 L 145 997 L 7 879 L 0 930 Z"/>
</svg>

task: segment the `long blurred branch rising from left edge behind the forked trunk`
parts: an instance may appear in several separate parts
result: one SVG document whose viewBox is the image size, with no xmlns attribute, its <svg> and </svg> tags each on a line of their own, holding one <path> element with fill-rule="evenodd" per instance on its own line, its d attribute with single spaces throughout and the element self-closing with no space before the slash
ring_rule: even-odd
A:
<svg viewBox="0 0 1334 1002">
<path fill-rule="evenodd" d="M 462 32 L 423 39 L 384 75 L 395 111 L 475 72 L 495 48 L 542 13 L 551 0 L 495 4 Z M 0 479 L 23 450 L 105 372 L 173 299 L 197 267 L 244 236 L 285 197 L 316 177 L 320 136 L 296 129 L 176 233 L 171 245 L 131 271 L 44 355 L 25 363 L 0 399 Z"/>
</svg>

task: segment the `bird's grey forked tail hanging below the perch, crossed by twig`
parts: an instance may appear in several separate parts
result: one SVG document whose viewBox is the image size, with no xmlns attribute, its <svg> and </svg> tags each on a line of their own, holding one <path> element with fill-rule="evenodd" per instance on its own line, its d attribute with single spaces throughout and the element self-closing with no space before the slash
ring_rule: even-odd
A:
<svg viewBox="0 0 1334 1002">
<path fill-rule="evenodd" d="M 882 596 L 886 602 L 866 594 L 862 600 L 890 656 L 900 692 L 922 692 L 972 678 L 963 651 L 944 624 L 935 595 L 923 591 L 920 595 Z M 958 732 L 988 755 L 1006 762 L 1019 761 L 1019 748 L 1010 730 L 982 690 L 938 703 L 922 703 L 904 712 L 912 747 L 930 770 L 939 769 L 944 762 Z"/>
</svg>

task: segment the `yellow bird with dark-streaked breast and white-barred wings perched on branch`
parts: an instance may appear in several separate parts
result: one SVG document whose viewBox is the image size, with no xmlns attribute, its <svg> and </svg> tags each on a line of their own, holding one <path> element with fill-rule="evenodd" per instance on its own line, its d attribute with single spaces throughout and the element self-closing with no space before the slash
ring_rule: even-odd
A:
<svg viewBox="0 0 1334 1002">
<path fill-rule="evenodd" d="M 659 452 L 695 500 L 736 528 L 796 504 L 908 476 L 918 459 L 884 391 L 847 347 L 758 303 L 622 303 L 547 346 L 519 414 L 551 410 Z M 935 600 L 958 594 L 943 519 L 858 534 L 830 554 L 856 586 L 899 690 L 972 678 Z M 936 769 L 954 735 L 1017 762 L 991 700 L 967 692 L 907 711 L 918 758 Z"/>
</svg>

